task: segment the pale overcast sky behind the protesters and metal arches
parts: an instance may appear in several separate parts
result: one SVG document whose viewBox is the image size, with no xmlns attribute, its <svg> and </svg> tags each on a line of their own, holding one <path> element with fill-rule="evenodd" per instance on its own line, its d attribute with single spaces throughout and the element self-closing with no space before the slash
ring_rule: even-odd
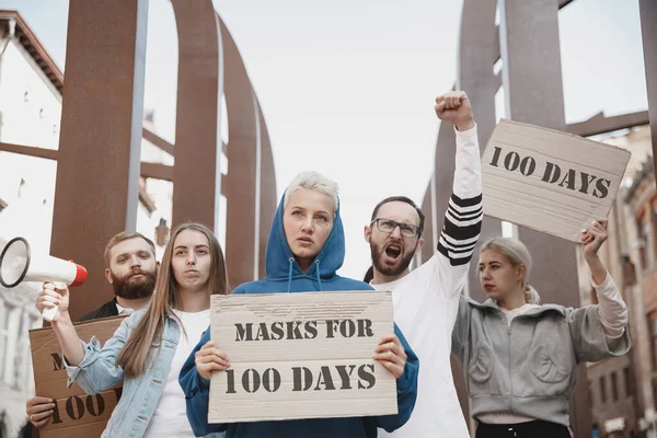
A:
<svg viewBox="0 0 657 438">
<path fill-rule="evenodd" d="M 368 266 L 362 226 L 378 200 L 422 201 L 439 126 L 434 97 L 454 82 L 458 35 L 468 32 L 461 4 L 215 0 L 262 104 L 279 193 L 303 170 L 341 185 L 342 275 L 361 277 Z M 0 9 L 18 9 L 65 67 L 68 0 L 0 0 Z M 568 123 L 646 108 L 636 0 L 576 0 L 560 12 L 560 33 Z M 145 106 L 172 142 L 176 64 L 171 3 L 151 0 Z"/>
</svg>

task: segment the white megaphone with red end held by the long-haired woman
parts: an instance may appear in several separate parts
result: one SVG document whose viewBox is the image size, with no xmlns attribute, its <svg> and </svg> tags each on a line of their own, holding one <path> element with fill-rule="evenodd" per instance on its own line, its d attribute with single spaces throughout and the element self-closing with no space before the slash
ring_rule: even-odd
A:
<svg viewBox="0 0 657 438">
<path fill-rule="evenodd" d="M 87 279 L 87 269 L 72 262 L 50 255 L 31 254 L 30 243 L 24 238 L 9 241 L 0 254 L 0 284 L 14 288 L 24 281 L 64 283 L 67 286 L 80 286 Z M 44 309 L 42 318 L 53 321 L 57 307 Z"/>
</svg>

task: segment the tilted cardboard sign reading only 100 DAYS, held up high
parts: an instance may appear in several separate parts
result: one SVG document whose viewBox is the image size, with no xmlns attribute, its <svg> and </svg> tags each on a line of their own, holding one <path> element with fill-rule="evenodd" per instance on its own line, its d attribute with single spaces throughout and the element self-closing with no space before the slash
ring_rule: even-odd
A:
<svg viewBox="0 0 657 438">
<path fill-rule="evenodd" d="M 579 242 L 607 218 L 630 152 L 503 119 L 482 157 L 484 214 Z"/>
</svg>

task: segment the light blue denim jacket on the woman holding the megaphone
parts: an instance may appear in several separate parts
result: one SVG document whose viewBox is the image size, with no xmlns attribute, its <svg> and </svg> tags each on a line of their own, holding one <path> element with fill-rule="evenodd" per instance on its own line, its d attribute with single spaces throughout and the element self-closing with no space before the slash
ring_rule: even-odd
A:
<svg viewBox="0 0 657 438">
<path fill-rule="evenodd" d="M 83 342 L 84 358 L 80 365 L 67 366 L 69 388 L 73 381 L 78 382 L 88 394 L 106 391 L 123 381 L 120 401 L 114 408 L 102 437 L 142 437 L 166 383 L 180 336 L 178 324 L 170 316 L 165 320 L 162 338 L 151 346 L 158 351 L 153 351 L 153 359 L 141 377 L 124 378 L 123 369 L 115 366 L 116 357 L 145 313 L 145 310 L 140 310 L 125 319 L 103 348 L 95 337 L 92 337 L 89 344 Z M 222 436 L 208 435 L 214 438 Z"/>
</svg>

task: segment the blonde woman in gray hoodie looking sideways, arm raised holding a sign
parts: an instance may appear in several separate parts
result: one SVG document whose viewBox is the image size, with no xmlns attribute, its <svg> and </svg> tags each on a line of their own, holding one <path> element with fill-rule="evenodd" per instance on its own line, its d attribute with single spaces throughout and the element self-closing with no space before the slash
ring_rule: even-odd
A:
<svg viewBox="0 0 657 438">
<path fill-rule="evenodd" d="M 598 257 L 607 221 L 583 232 L 581 250 L 599 304 L 541 304 L 530 286 L 531 256 L 517 239 L 482 246 L 480 281 L 488 299 L 461 298 L 452 353 L 461 359 L 476 438 L 569 438 L 577 365 L 630 349 L 627 307 Z"/>
</svg>

